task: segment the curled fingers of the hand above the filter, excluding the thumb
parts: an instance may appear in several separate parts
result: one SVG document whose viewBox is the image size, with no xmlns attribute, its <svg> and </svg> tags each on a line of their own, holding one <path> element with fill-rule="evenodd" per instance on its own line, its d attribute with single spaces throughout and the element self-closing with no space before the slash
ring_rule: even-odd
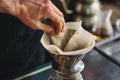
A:
<svg viewBox="0 0 120 80">
<path fill-rule="evenodd" d="M 43 17 L 41 17 L 41 12 L 43 12 Z M 54 28 L 56 34 L 59 34 L 63 30 L 65 24 L 63 14 L 52 4 L 52 2 L 45 6 L 41 6 L 39 14 L 40 20 L 48 18 L 52 21 L 51 27 Z"/>
</svg>

